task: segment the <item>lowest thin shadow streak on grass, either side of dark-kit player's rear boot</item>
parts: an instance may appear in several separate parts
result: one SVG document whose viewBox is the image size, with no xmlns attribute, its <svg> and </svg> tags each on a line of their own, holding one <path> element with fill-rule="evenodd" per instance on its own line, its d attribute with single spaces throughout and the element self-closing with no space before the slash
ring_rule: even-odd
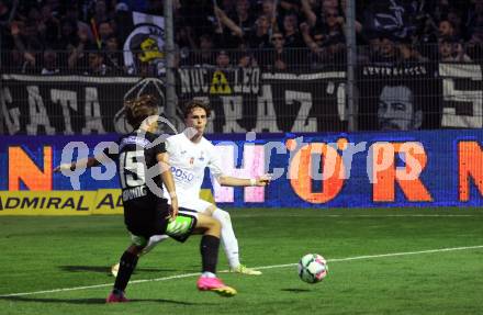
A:
<svg viewBox="0 0 483 315">
<path fill-rule="evenodd" d="M 67 303 L 67 304 L 105 304 L 105 299 L 38 299 L 24 296 L 1 296 L 0 300 L 10 302 L 35 302 L 35 303 Z M 156 302 L 178 305 L 213 305 L 213 303 L 190 303 L 166 299 L 130 299 L 128 303 Z"/>
</svg>

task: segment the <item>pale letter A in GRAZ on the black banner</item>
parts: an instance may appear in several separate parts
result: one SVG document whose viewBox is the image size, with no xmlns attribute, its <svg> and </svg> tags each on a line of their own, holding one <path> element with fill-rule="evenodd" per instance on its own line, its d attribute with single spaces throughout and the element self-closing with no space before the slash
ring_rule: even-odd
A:
<svg viewBox="0 0 483 315">
<path fill-rule="evenodd" d="M 273 97 L 271 86 L 263 85 L 261 87 L 261 97 L 257 102 L 257 125 L 255 132 L 262 133 L 280 133 L 277 125 L 277 115 L 273 106 Z"/>
</svg>

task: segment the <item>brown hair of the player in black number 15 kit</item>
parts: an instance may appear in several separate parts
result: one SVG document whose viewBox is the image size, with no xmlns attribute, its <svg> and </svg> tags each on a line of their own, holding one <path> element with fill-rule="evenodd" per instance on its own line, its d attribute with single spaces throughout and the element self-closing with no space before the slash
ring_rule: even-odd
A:
<svg viewBox="0 0 483 315">
<path fill-rule="evenodd" d="M 124 112 L 127 123 L 137 130 L 145 119 L 158 113 L 157 101 L 158 100 L 151 94 L 144 94 L 124 101 Z"/>
</svg>

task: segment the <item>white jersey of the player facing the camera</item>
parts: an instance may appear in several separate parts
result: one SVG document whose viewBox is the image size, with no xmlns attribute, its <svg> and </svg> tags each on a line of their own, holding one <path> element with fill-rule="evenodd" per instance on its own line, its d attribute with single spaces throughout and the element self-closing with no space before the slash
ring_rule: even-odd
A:
<svg viewBox="0 0 483 315">
<path fill-rule="evenodd" d="M 223 175 L 220 156 L 215 153 L 213 144 L 204 137 L 199 143 L 193 143 L 183 133 L 170 136 L 166 139 L 166 150 L 169 154 L 180 206 L 200 199 L 206 167 L 215 178 Z M 166 188 L 164 193 L 169 200 Z"/>
</svg>

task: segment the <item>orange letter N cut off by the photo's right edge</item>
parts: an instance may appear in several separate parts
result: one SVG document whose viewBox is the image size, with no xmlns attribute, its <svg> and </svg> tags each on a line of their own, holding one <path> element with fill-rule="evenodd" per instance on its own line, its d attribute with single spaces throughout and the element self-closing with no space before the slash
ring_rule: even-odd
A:
<svg viewBox="0 0 483 315">
<path fill-rule="evenodd" d="M 470 200 L 470 177 L 483 195 L 483 150 L 476 142 L 458 144 L 459 196 Z"/>
</svg>

